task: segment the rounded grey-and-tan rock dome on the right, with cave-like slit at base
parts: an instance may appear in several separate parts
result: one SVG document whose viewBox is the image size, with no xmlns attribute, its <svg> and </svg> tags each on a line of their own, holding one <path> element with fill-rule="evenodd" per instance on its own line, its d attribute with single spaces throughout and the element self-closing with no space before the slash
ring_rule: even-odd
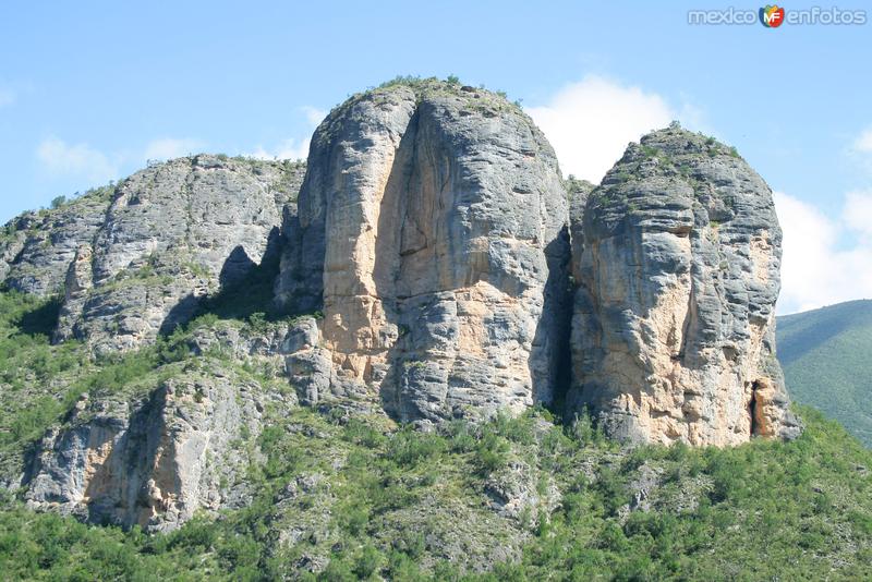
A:
<svg viewBox="0 0 872 582">
<path fill-rule="evenodd" d="M 616 437 L 794 437 L 775 360 L 782 231 L 765 182 L 677 125 L 631 144 L 586 202 L 569 401 Z"/>
</svg>

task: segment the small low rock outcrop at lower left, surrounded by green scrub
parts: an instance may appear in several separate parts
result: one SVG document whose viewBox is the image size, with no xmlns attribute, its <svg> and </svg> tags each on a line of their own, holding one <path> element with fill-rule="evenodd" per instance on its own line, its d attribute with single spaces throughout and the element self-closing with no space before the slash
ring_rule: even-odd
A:
<svg viewBox="0 0 872 582">
<path fill-rule="evenodd" d="M 142 400 L 81 400 L 43 440 L 28 502 L 92 523 L 172 529 L 198 509 L 245 500 L 250 459 L 234 445 L 261 431 L 261 386 L 211 362 Z"/>
</svg>

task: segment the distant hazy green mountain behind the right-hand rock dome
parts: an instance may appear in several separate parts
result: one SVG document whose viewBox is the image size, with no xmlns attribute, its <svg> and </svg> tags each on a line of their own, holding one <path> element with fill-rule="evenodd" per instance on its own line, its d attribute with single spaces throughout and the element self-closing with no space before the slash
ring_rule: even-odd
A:
<svg viewBox="0 0 872 582">
<path fill-rule="evenodd" d="M 777 340 L 790 396 L 872 446 L 872 301 L 779 317 Z"/>
</svg>

